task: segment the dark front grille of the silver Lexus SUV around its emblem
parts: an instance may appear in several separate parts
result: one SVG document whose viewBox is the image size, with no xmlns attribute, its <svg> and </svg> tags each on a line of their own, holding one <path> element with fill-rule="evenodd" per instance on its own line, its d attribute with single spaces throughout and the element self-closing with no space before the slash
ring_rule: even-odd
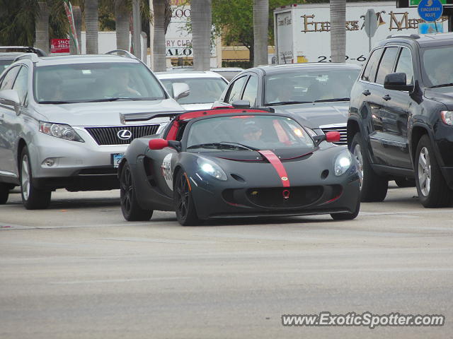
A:
<svg viewBox="0 0 453 339">
<path fill-rule="evenodd" d="M 94 138 L 98 145 L 129 145 L 135 138 L 150 136 L 156 134 L 159 129 L 157 125 L 140 125 L 140 126 L 115 126 L 115 127 L 86 127 L 86 131 Z M 120 131 L 130 131 L 132 136 L 128 139 L 122 139 L 118 136 Z"/>
</svg>

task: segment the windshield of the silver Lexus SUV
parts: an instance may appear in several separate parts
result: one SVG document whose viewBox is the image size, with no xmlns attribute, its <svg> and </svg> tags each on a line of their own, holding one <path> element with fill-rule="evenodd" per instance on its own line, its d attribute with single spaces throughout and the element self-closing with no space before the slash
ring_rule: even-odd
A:
<svg viewBox="0 0 453 339">
<path fill-rule="evenodd" d="M 40 66 L 33 85 L 35 100 L 41 103 L 165 98 L 147 67 L 130 62 Z"/>
</svg>

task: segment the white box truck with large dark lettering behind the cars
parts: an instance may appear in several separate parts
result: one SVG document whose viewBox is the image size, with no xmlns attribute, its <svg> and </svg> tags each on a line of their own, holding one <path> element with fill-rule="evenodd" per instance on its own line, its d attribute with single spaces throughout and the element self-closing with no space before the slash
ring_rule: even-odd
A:
<svg viewBox="0 0 453 339">
<path fill-rule="evenodd" d="M 447 17 L 425 23 L 416 7 L 396 8 L 395 1 L 346 3 L 346 62 L 363 64 L 369 53 L 365 14 L 374 9 L 378 24 L 372 44 L 389 35 L 447 32 Z M 277 64 L 328 62 L 331 58 L 329 4 L 293 4 L 274 10 Z M 423 31 L 422 31 L 423 29 Z"/>
</svg>

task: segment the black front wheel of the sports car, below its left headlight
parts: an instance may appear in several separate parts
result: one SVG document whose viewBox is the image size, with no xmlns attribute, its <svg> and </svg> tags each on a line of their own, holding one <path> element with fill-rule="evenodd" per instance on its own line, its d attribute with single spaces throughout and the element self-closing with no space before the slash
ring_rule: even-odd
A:
<svg viewBox="0 0 453 339">
<path fill-rule="evenodd" d="M 193 203 L 192 191 L 187 174 L 185 174 L 183 169 L 176 174 L 173 195 L 178 222 L 183 226 L 198 225 L 200 219 L 195 210 L 195 203 Z"/>
</svg>

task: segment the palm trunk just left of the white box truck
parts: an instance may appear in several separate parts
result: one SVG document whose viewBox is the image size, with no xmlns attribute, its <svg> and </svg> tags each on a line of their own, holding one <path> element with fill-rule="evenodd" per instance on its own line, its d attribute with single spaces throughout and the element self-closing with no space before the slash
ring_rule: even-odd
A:
<svg viewBox="0 0 453 339">
<path fill-rule="evenodd" d="M 268 64 L 268 25 L 269 0 L 253 0 L 253 66 Z"/>
</svg>

